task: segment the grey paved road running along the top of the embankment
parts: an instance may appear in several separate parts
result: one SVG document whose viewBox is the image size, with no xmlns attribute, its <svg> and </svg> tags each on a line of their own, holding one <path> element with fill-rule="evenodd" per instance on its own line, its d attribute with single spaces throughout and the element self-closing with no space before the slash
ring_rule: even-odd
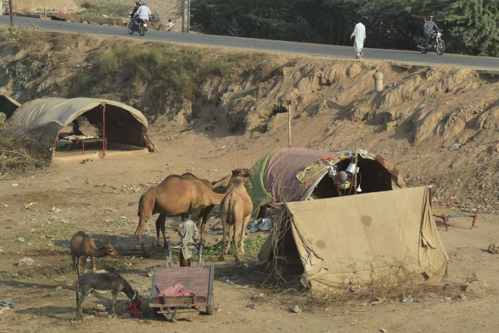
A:
<svg viewBox="0 0 499 333">
<path fill-rule="evenodd" d="M 128 35 L 126 28 L 119 28 L 115 26 L 45 21 L 42 19 L 30 19 L 27 17 L 17 17 L 16 23 L 27 24 L 28 26 L 34 24 L 40 29 L 50 31 L 89 33 L 110 37 L 138 38 L 140 40 L 175 42 L 181 44 L 201 44 L 230 49 L 251 49 L 254 51 L 270 51 L 276 53 L 299 53 L 308 56 L 331 56 L 335 58 L 354 58 L 355 56 L 353 47 L 351 46 L 283 42 L 277 40 L 256 40 L 253 38 L 199 35 L 195 33 L 168 33 L 166 31 L 148 31 L 145 36 L 141 37 L 137 33 L 130 36 Z M 0 25 L 8 24 L 10 24 L 9 17 L 1 15 Z M 366 60 L 393 60 L 396 62 L 408 62 L 417 65 L 448 65 L 487 71 L 499 71 L 499 58 L 461 56 L 448 53 L 444 54 L 444 56 L 438 56 L 436 53 L 423 55 L 419 51 L 397 51 L 385 49 L 365 49 L 364 53 L 364 58 Z"/>
</svg>

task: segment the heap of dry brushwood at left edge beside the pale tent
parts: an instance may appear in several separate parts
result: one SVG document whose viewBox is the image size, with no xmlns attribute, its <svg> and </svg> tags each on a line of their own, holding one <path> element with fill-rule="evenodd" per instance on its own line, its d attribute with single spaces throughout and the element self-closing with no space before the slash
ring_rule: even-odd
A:
<svg viewBox="0 0 499 333">
<path fill-rule="evenodd" d="M 0 178 L 46 167 L 50 151 L 6 124 L 0 112 Z"/>
</svg>

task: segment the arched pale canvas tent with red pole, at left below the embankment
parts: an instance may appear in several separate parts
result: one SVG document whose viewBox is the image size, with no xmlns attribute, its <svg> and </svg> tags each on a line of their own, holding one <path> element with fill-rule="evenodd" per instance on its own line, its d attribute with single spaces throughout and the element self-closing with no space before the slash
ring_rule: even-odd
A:
<svg viewBox="0 0 499 333">
<path fill-rule="evenodd" d="M 107 99 L 35 99 L 21 105 L 10 118 L 22 132 L 49 149 L 55 148 L 61 128 L 85 117 L 107 142 L 154 150 L 148 121 L 129 105 Z"/>
</svg>

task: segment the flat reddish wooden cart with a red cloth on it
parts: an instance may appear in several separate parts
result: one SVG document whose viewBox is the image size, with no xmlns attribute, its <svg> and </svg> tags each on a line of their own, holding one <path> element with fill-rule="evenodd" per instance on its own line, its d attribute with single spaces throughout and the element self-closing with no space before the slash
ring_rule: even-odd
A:
<svg viewBox="0 0 499 333">
<path fill-rule="evenodd" d="M 163 314 L 168 321 L 189 319 L 202 309 L 213 314 L 213 276 L 215 266 L 157 267 L 152 275 L 149 307 Z M 159 296 L 158 289 L 182 284 L 191 296 Z"/>
</svg>

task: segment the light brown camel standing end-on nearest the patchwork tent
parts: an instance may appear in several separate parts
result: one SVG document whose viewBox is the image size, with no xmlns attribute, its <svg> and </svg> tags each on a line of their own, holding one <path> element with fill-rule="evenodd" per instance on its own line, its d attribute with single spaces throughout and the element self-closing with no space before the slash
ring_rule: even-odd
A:
<svg viewBox="0 0 499 333">
<path fill-rule="evenodd" d="M 236 177 L 232 178 L 230 183 L 233 187 L 220 203 L 223 228 L 221 259 L 225 260 L 225 255 L 229 252 L 230 239 L 234 233 L 236 262 L 241 262 L 240 255 L 244 255 L 246 225 L 253 212 L 253 203 L 245 188 L 245 186 L 251 186 L 251 182 L 247 178 Z"/>
</svg>

